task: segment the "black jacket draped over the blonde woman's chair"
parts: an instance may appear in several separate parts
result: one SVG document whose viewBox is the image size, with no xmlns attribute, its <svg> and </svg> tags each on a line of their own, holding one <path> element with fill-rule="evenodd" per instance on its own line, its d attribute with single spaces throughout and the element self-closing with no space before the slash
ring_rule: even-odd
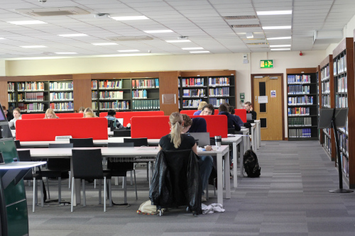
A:
<svg viewBox="0 0 355 236">
<path fill-rule="evenodd" d="M 189 206 L 202 213 L 202 185 L 198 156 L 192 150 L 158 152 L 149 191 L 153 205 L 160 208 Z"/>
</svg>

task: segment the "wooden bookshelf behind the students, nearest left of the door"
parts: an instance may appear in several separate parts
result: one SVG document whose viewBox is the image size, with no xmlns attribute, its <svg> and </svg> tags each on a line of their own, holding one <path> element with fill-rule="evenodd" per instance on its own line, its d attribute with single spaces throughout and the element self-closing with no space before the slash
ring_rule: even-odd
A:
<svg viewBox="0 0 355 236">
<path fill-rule="evenodd" d="M 179 108 L 197 109 L 200 101 L 218 108 L 222 103 L 236 107 L 236 86 L 234 70 L 180 72 Z"/>
</svg>

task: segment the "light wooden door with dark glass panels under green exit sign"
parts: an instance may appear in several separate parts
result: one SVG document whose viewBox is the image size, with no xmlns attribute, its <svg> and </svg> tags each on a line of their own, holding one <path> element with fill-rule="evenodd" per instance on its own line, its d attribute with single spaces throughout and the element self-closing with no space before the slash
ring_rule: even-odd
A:
<svg viewBox="0 0 355 236">
<path fill-rule="evenodd" d="M 261 140 L 283 140 L 282 74 L 252 75 L 252 78 L 251 106 L 256 111 L 257 119 L 261 120 Z"/>
</svg>

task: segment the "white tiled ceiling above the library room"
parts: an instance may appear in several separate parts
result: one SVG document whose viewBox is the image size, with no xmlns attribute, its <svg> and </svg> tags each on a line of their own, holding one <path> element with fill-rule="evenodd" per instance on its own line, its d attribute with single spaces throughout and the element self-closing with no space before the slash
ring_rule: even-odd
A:
<svg viewBox="0 0 355 236">
<path fill-rule="evenodd" d="M 291 45 L 291 50 L 324 50 L 329 44 L 313 44 L 315 30 L 342 30 L 355 13 L 354 0 L 0 0 L 0 59 L 57 57 L 55 52 L 77 52 L 75 57 L 116 56 L 140 50 L 151 55 L 190 55 L 182 47 L 203 47 L 210 53 L 268 52 L 269 45 Z M 15 9 L 77 6 L 91 14 L 31 17 Z M 293 10 L 292 15 L 256 16 L 256 11 Z M 96 13 L 110 16 L 144 15 L 149 20 L 114 21 L 94 18 Z M 254 19 L 225 20 L 224 16 L 256 16 Z M 7 21 L 39 20 L 46 24 L 16 26 Z M 231 28 L 231 25 L 292 26 L 288 30 Z M 170 29 L 173 33 L 144 33 L 143 30 Z M 246 40 L 246 32 L 254 38 Z M 58 35 L 84 33 L 88 36 L 64 38 Z M 150 36 L 153 40 L 108 43 L 109 37 Z M 188 36 L 190 43 L 166 43 Z M 289 40 L 269 40 L 292 36 Z M 248 43 L 269 43 L 249 45 Z M 20 46 L 44 45 L 44 48 Z M 136 55 L 137 52 L 129 52 Z"/>
</svg>

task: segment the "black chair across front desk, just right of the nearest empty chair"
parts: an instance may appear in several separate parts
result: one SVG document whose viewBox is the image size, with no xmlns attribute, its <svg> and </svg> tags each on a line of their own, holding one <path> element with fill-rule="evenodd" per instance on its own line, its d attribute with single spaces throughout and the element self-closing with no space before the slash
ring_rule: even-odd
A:
<svg viewBox="0 0 355 236">
<path fill-rule="evenodd" d="M 109 142 L 107 144 L 107 147 L 134 147 L 133 142 L 124 142 L 124 143 L 119 143 L 119 142 Z M 136 169 L 134 169 L 134 162 L 129 161 L 130 157 L 126 157 L 126 160 L 122 160 L 122 158 L 118 159 L 118 162 L 114 162 L 115 158 L 109 158 L 107 159 L 107 170 L 104 170 L 104 172 L 109 172 L 111 176 L 122 176 L 122 186 L 124 187 L 124 204 L 127 203 L 127 181 L 126 181 L 126 176 L 127 172 L 132 172 L 134 174 L 134 186 L 136 189 L 136 199 L 138 200 L 138 194 L 137 194 L 137 183 L 136 183 Z"/>
</svg>

